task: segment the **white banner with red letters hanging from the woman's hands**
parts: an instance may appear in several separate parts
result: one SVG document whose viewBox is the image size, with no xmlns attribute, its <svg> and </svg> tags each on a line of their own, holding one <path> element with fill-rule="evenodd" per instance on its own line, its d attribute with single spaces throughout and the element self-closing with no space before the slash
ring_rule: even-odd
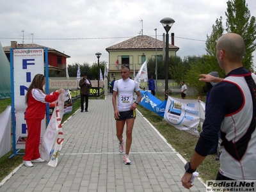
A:
<svg viewBox="0 0 256 192">
<path fill-rule="evenodd" d="M 54 145 L 54 152 L 52 156 L 55 156 L 54 159 L 51 158 L 50 166 L 56 166 L 58 163 L 58 152 L 60 152 L 62 143 L 64 140 L 61 120 L 64 113 L 64 102 L 65 102 L 65 90 L 61 89 L 61 94 L 58 97 L 58 100 L 55 102 L 55 108 L 51 116 L 51 120 L 47 126 L 45 134 L 42 140 L 42 146 L 40 150 L 40 155 L 42 159 L 46 161 L 50 160 L 50 154 L 52 147 Z"/>
</svg>

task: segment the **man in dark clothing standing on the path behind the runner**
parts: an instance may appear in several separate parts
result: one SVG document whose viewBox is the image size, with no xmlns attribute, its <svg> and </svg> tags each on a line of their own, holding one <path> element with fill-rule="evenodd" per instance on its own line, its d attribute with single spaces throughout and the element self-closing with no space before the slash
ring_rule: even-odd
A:
<svg viewBox="0 0 256 192">
<path fill-rule="evenodd" d="M 88 102 L 90 88 L 92 88 L 92 83 L 87 79 L 88 74 L 83 75 L 83 79 L 79 81 L 80 95 L 81 95 L 81 112 L 84 111 L 84 98 L 85 98 L 85 112 L 88 112 Z"/>
</svg>

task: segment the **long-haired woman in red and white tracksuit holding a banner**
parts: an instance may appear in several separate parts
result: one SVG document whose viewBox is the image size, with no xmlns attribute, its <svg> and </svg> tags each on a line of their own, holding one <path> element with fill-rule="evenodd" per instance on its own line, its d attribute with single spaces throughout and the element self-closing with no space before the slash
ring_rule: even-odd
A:
<svg viewBox="0 0 256 192">
<path fill-rule="evenodd" d="M 32 163 L 43 163 L 45 161 L 40 158 L 39 153 L 41 121 L 45 117 L 46 103 L 54 102 L 61 93 L 61 90 L 57 90 L 45 95 L 44 85 L 45 76 L 43 74 L 36 74 L 25 97 L 25 102 L 28 104 L 25 113 L 28 138 L 26 140 L 23 163 L 27 167 L 33 166 Z"/>
</svg>

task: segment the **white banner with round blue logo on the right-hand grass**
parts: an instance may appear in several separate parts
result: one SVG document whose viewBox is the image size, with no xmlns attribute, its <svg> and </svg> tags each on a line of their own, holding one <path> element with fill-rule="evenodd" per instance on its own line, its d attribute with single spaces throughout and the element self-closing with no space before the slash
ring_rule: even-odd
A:
<svg viewBox="0 0 256 192">
<path fill-rule="evenodd" d="M 168 97 L 164 120 L 177 129 L 199 136 L 197 129 L 200 121 L 198 100 Z"/>
</svg>

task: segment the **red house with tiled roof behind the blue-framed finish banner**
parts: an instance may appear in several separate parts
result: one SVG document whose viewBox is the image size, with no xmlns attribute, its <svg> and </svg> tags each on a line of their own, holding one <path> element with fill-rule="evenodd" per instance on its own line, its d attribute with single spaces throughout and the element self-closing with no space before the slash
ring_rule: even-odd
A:
<svg viewBox="0 0 256 192">
<path fill-rule="evenodd" d="M 3 47 L 3 50 L 10 61 L 10 49 L 13 48 L 45 48 L 43 45 L 38 44 L 17 44 L 16 41 L 12 41 L 10 46 Z M 67 54 L 63 52 L 57 51 L 56 49 L 52 49 L 48 47 L 48 68 L 49 70 L 54 70 L 56 74 L 65 74 L 67 58 L 70 58 Z M 45 64 L 45 57 L 44 57 Z"/>
</svg>

